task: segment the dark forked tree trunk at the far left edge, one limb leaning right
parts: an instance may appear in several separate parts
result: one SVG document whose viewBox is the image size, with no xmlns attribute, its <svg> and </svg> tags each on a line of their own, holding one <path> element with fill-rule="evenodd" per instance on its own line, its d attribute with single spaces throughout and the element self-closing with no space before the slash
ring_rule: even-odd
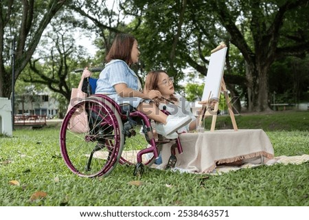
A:
<svg viewBox="0 0 309 220">
<path fill-rule="evenodd" d="M 19 78 L 19 75 L 27 65 L 27 63 L 30 61 L 30 58 L 32 57 L 32 54 L 34 53 L 34 50 L 36 50 L 36 46 L 38 45 L 38 42 L 41 39 L 41 36 L 51 21 L 51 19 L 54 17 L 56 12 L 60 10 L 62 5 L 65 3 L 65 1 L 58 1 L 58 0 L 49 0 L 47 5 L 49 6 L 47 13 L 39 16 L 34 16 L 34 14 L 38 14 L 38 12 L 34 12 L 37 8 L 39 10 L 42 10 L 40 8 L 40 3 L 38 1 L 37 5 L 34 4 L 34 1 L 22 1 L 22 4 L 20 7 L 21 10 L 19 12 L 16 12 L 18 14 L 22 21 L 19 23 L 16 23 L 16 26 L 12 27 L 10 26 L 10 23 L 8 22 L 9 19 L 13 19 L 16 17 L 16 14 L 13 13 L 12 5 L 14 4 L 16 7 L 18 4 L 15 4 L 14 1 L 9 1 L 10 5 L 1 5 L 0 4 L 0 12 L 3 14 L 4 12 L 7 12 L 8 14 L 5 14 L 5 21 L 1 21 L 0 24 L 0 42 L 5 45 L 9 41 L 7 39 L 3 39 L 4 36 L 4 30 L 19 30 L 19 35 L 16 36 L 16 50 L 15 50 L 15 78 L 14 78 L 14 84 Z M 15 1 L 16 2 L 16 1 Z M 35 7 L 37 6 L 37 7 Z M 19 26 L 20 25 L 20 26 Z M 17 31 L 14 32 L 16 34 Z M 6 33 L 8 35 L 13 35 L 11 32 Z M 12 93 L 12 67 L 5 69 L 4 65 L 8 62 L 8 57 L 2 56 L 3 53 L 3 47 L 0 47 L 0 96 L 8 97 L 10 98 L 10 95 Z"/>
</svg>

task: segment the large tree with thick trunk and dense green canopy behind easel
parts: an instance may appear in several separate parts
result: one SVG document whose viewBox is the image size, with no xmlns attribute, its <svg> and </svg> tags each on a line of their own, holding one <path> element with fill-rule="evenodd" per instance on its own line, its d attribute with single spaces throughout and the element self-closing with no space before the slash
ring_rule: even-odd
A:
<svg viewBox="0 0 309 220">
<path fill-rule="evenodd" d="M 130 2 L 132 11 L 143 15 L 136 34 L 145 45 L 142 51 L 148 67 L 163 65 L 176 74 L 174 69 L 178 67 L 179 72 L 187 64 L 206 75 L 210 50 L 225 41 L 244 60 L 244 74 L 233 74 L 233 57 L 228 55 L 225 79 L 230 88 L 246 85 L 251 110 L 268 109 L 271 65 L 309 49 L 308 0 Z"/>
</svg>

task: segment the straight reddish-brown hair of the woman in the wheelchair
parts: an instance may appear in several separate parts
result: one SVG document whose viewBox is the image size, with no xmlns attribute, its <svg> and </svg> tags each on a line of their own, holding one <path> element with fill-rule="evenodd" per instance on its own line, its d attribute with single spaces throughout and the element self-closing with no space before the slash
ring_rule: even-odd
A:
<svg viewBox="0 0 309 220">
<path fill-rule="evenodd" d="M 132 64 L 131 52 L 135 40 L 135 37 L 131 34 L 117 34 L 111 46 L 111 50 L 109 50 L 106 55 L 106 63 L 111 60 L 119 59 L 126 62 L 128 65 Z"/>
</svg>

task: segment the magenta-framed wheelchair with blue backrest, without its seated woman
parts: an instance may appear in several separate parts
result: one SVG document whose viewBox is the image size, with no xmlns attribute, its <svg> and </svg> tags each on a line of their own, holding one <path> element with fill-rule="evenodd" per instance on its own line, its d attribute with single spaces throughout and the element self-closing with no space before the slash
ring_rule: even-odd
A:
<svg viewBox="0 0 309 220">
<path fill-rule="evenodd" d="M 118 105 L 113 99 L 94 94 L 96 79 L 85 78 L 82 91 L 87 98 L 78 101 L 65 115 L 60 127 L 60 151 L 67 167 L 80 177 L 110 174 L 117 164 L 134 166 L 133 175 L 142 175 L 159 157 L 163 144 L 172 142 L 166 168 L 176 163 L 176 149 L 183 153 L 179 137 L 156 140 L 147 116 L 130 105 Z M 168 114 L 167 111 L 162 110 Z M 74 132 L 73 117 L 85 114 L 84 131 Z M 138 131 L 138 132 L 137 132 Z M 143 131 L 143 135 L 139 131 Z"/>
</svg>

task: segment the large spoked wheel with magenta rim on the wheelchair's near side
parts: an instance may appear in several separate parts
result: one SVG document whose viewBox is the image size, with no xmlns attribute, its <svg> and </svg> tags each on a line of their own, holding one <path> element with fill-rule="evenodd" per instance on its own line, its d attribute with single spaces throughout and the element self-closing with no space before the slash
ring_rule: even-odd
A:
<svg viewBox="0 0 309 220">
<path fill-rule="evenodd" d="M 78 115 L 84 114 L 84 121 Z M 86 98 L 75 104 L 60 129 L 65 164 L 81 177 L 106 176 L 115 168 L 124 147 L 122 120 L 104 98 Z"/>
</svg>

